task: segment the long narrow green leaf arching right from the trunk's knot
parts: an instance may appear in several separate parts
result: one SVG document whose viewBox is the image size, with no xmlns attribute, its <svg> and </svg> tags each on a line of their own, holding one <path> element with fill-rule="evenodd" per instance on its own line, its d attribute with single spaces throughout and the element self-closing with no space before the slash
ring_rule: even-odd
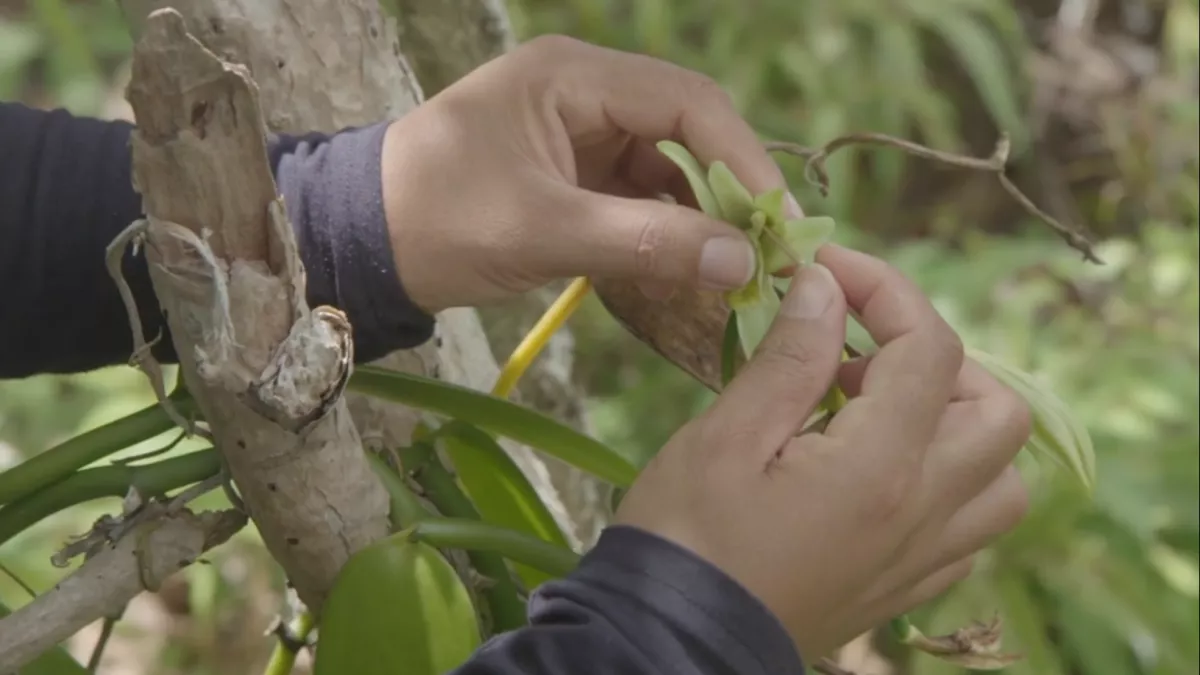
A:
<svg viewBox="0 0 1200 675">
<path fill-rule="evenodd" d="M 636 458 L 625 456 L 546 414 L 490 394 L 378 366 L 355 369 L 349 388 L 461 419 L 553 455 L 620 488 L 628 488 L 637 477 Z"/>
</svg>

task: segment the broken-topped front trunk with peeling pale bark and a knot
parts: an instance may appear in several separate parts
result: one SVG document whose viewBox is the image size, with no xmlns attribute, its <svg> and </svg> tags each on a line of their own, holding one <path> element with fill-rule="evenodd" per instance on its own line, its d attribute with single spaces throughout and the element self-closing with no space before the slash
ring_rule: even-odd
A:
<svg viewBox="0 0 1200 675">
<path fill-rule="evenodd" d="M 155 292 L 250 516 L 319 611 L 349 556 L 388 532 L 386 494 L 341 400 L 348 325 L 306 304 L 250 73 L 174 10 L 142 32 L 128 100 Z"/>
</svg>

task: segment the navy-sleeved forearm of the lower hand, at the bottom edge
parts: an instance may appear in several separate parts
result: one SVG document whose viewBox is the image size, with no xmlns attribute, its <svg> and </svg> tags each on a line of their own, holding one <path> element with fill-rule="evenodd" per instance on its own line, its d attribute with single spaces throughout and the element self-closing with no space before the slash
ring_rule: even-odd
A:
<svg viewBox="0 0 1200 675">
<path fill-rule="evenodd" d="M 782 626 L 690 551 L 607 528 L 578 569 L 541 586 L 530 625 L 450 675 L 800 675 Z"/>
</svg>

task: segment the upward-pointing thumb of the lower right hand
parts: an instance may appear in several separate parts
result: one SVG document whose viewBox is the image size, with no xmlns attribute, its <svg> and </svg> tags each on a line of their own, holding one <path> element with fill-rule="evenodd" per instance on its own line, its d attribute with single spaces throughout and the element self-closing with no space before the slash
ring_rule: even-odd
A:
<svg viewBox="0 0 1200 675">
<path fill-rule="evenodd" d="M 721 393 L 716 412 L 775 452 L 796 436 L 834 382 L 846 340 L 846 297 L 812 263 L 792 279 L 754 357 Z M 715 412 L 715 411 L 714 411 Z"/>
</svg>

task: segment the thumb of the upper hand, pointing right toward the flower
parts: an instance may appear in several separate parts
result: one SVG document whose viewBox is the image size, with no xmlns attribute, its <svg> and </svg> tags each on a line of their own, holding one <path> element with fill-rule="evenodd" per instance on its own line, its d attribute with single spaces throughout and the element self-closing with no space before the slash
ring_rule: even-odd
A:
<svg viewBox="0 0 1200 675">
<path fill-rule="evenodd" d="M 571 187 L 558 192 L 547 276 L 595 276 L 730 291 L 746 285 L 754 249 L 738 228 L 658 199 Z M 542 267 L 542 265 L 539 265 Z"/>
</svg>

